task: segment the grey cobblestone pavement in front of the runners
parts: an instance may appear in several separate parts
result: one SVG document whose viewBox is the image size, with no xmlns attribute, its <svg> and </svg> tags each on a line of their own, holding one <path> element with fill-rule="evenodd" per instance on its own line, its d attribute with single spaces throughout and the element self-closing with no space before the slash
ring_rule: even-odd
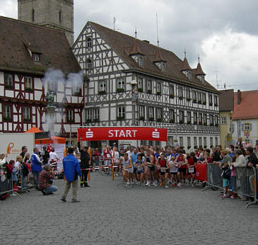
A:
<svg viewBox="0 0 258 245">
<path fill-rule="evenodd" d="M 201 187 L 124 188 L 91 174 L 80 203 L 31 190 L 1 201 L 0 244 L 258 244 L 258 208 Z"/>
</svg>

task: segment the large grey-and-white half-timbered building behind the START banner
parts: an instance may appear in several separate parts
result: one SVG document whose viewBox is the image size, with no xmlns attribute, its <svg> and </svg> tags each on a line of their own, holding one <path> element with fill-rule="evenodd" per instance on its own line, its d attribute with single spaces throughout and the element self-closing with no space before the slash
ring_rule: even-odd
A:
<svg viewBox="0 0 258 245">
<path fill-rule="evenodd" d="M 86 23 L 72 50 L 89 79 L 85 125 L 164 126 L 169 144 L 173 139 L 185 149 L 219 144 L 218 91 L 205 80 L 200 62 L 192 69 L 187 57 L 93 22 Z"/>
</svg>

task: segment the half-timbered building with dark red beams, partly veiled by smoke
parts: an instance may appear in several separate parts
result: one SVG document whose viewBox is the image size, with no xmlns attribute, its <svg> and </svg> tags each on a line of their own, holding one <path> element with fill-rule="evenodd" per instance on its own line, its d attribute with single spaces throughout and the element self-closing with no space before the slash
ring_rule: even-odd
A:
<svg viewBox="0 0 258 245">
<path fill-rule="evenodd" d="M 64 76 L 81 71 L 66 35 L 1 16 L 0 30 L 0 132 L 49 130 L 46 96 L 53 91 L 54 133 L 69 137 L 69 126 L 82 124 L 84 86 L 65 77 L 53 83 L 43 79 L 49 68 L 61 70 Z"/>
</svg>

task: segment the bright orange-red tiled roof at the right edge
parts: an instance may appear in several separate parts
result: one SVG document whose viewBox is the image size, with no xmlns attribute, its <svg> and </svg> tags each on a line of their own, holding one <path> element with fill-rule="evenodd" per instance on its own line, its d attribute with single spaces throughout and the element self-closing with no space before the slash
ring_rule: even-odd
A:
<svg viewBox="0 0 258 245">
<path fill-rule="evenodd" d="M 238 92 L 234 93 L 233 120 L 238 119 L 258 119 L 258 90 L 242 91 L 241 102 L 238 105 Z"/>
</svg>

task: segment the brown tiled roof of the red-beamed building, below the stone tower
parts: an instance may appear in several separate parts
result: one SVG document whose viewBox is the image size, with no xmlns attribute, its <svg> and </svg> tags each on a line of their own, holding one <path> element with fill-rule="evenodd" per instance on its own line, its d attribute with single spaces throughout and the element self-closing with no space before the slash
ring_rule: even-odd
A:
<svg viewBox="0 0 258 245">
<path fill-rule="evenodd" d="M 0 69 L 30 74 L 44 74 L 48 68 L 64 73 L 81 70 L 61 30 L 0 16 Z M 30 52 L 41 53 L 33 62 Z"/>
</svg>

